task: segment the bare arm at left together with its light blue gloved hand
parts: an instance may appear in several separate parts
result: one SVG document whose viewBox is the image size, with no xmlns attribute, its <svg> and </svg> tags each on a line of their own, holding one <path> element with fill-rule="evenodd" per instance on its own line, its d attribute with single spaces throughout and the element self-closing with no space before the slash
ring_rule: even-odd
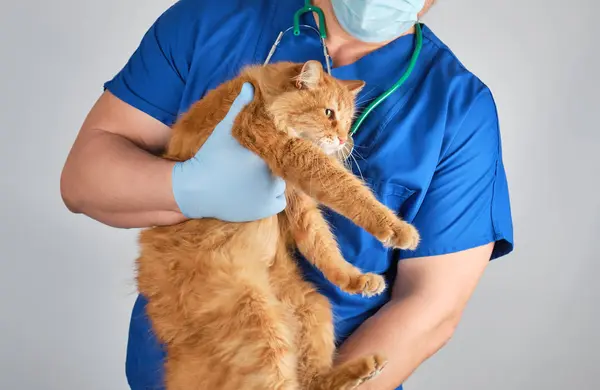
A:
<svg viewBox="0 0 600 390">
<path fill-rule="evenodd" d="M 285 207 L 285 183 L 231 136 L 233 119 L 252 98 L 248 85 L 207 145 L 176 163 L 156 156 L 166 148 L 171 129 L 105 92 L 63 169 L 65 204 L 72 212 L 122 228 L 213 216 L 247 221 L 278 213 Z"/>
</svg>

